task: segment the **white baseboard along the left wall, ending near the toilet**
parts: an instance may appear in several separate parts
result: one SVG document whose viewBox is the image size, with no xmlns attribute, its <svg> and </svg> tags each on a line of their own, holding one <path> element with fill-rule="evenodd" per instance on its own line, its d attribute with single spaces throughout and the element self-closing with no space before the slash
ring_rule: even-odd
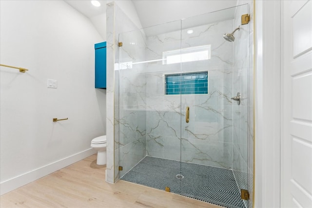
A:
<svg viewBox="0 0 312 208">
<path fill-rule="evenodd" d="M 97 153 L 96 150 L 94 150 L 93 148 L 90 148 L 80 153 L 77 153 L 75 155 L 65 157 L 63 159 L 60 159 L 59 161 L 50 163 L 48 165 L 45 165 L 43 167 L 30 171 L 28 173 L 23 173 L 14 178 L 8 179 L 6 181 L 2 181 L 0 183 L 0 195 L 3 195 L 9 191 L 13 191 L 17 188 L 20 188 L 21 186 L 24 186 L 30 182 L 33 182 L 50 173 L 56 172 L 66 166 L 69 166 L 75 162 L 78 162 L 79 160 L 82 160 L 88 156 L 92 156 L 96 153 Z"/>
</svg>

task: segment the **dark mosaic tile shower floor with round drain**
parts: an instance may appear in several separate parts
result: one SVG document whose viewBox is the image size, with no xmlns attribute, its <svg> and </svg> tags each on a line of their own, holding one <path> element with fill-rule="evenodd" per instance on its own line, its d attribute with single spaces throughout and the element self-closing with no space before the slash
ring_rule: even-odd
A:
<svg viewBox="0 0 312 208">
<path fill-rule="evenodd" d="M 170 187 L 171 192 L 223 207 L 245 208 L 228 169 L 145 156 L 120 179 L 159 190 Z"/>
</svg>

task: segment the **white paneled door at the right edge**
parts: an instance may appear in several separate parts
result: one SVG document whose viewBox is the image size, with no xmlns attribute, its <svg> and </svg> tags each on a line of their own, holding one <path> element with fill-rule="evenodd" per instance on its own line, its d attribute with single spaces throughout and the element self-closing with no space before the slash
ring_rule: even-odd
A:
<svg viewBox="0 0 312 208">
<path fill-rule="evenodd" d="M 312 208 L 312 0 L 281 3 L 281 207 Z"/>
</svg>

